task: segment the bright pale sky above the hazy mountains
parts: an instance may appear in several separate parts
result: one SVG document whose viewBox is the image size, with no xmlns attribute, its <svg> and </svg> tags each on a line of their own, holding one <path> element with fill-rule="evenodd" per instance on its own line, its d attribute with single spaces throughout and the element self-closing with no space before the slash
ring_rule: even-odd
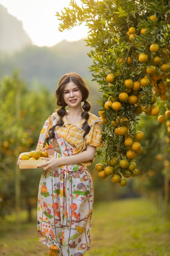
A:
<svg viewBox="0 0 170 256">
<path fill-rule="evenodd" d="M 37 46 L 54 46 L 63 39 L 77 41 L 87 37 L 85 24 L 69 31 L 58 31 L 56 11 L 69 6 L 70 0 L 0 0 L 8 13 L 22 21 L 23 28 Z M 80 0 L 75 1 L 80 4 Z"/>
</svg>

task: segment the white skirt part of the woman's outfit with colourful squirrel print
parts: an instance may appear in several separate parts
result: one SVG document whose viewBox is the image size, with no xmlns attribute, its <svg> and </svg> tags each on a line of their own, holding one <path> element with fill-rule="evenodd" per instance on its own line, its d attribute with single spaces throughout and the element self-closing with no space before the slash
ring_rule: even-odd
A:
<svg viewBox="0 0 170 256">
<path fill-rule="evenodd" d="M 94 200 L 85 166 L 43 171 L 38 191 L 38 237 L 59 256 L 82 256 L 90 248 Z"/>
</svg>

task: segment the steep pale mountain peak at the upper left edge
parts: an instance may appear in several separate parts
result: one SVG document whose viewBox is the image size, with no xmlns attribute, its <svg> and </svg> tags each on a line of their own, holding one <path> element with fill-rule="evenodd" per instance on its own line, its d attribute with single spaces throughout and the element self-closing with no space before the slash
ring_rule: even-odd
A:
<svg viewBox="0 0 170 256">
<path fill-rule="evenodd" d="M 25 45 L 31 45 L 31 39 L 24 31 L 22 22 L 0 4 L 0 52 L 12 54 Z"/>
</svg>

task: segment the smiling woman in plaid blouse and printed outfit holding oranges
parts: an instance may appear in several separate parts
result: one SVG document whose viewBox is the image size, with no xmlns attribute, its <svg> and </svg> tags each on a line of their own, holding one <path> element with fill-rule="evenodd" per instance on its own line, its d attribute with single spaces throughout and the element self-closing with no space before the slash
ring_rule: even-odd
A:
<svg viewBox="0 0 170 256">
<path fill-rule="evenodd" d="M 42 151 L 48 152 L 48 161 L 38 166 L 44 170 L 38 192 L 38 237 L 49 247 L 49 256 L 83 256 L 90 248 L 94 194 L 86 166 L 103 144 L 100 119 L 88 113 L 88 96 L 81 76 L 62 76 L 56 90 L 61 108 L 47 119 L 38 141 L 37 150 L 46 137 Z"/>
</svg>

